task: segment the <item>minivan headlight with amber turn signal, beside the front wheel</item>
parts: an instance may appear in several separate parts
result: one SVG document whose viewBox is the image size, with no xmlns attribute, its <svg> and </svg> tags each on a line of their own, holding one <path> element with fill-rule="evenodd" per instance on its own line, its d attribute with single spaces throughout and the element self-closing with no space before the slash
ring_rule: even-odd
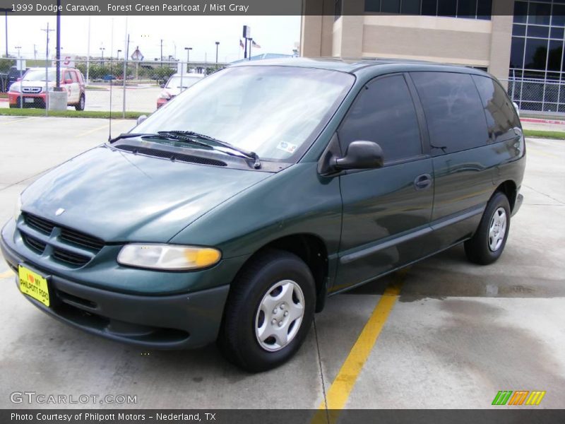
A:
<svg viewBox="0 0 565 424">
<path fill-rule="evenodd" d="M 221 257 L 222 253 L 212 247 L 132 244 L 121 248 L 118 263 L 138 268 L 183 271 L 212 266 Z"/>
</svg>

